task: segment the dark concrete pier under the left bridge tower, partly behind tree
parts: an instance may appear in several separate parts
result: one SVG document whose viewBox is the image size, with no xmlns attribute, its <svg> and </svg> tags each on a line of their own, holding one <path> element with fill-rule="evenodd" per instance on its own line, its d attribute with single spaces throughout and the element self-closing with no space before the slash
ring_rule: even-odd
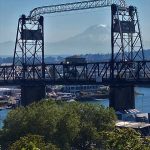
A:
<svg viewBox="0 0 150 150">
<path fill-rule="evenodd" d="M 37 102 L 45 98 L 45 85 L 22 85 L 21 105 L 27 106 L 32 102 Z"/>
</svg>

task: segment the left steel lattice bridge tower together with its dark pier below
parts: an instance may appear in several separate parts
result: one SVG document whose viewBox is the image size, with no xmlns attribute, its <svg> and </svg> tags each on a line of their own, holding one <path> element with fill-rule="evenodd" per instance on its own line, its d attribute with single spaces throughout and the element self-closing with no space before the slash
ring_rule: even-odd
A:
<svg viewBox="0 0 150 150">
<path fill-rule="evenodd" d="M 42 16 L 31 19 L 25 15 L 18 20 L 13 68 L 14 79 L 21 80 L 24 106 L 45 97 L 45 84 L 41 82 L 45 78 L 43 21 Z"/>
</svg>

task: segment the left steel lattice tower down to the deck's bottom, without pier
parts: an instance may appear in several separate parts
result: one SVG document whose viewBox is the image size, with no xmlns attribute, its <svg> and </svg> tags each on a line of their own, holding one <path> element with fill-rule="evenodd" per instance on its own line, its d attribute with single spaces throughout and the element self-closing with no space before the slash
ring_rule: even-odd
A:
<svg viewBox="0 0 150 150">
<path fill-rule="evenodd" d="M 44 78 L 44 18 L 22 15 L 18 20 L 13 66 L 15 78 Z M 36 67 L 39 65 L 40 67 Z M 17 70 L 17 71 L 16 71 Z"/>
</svg>

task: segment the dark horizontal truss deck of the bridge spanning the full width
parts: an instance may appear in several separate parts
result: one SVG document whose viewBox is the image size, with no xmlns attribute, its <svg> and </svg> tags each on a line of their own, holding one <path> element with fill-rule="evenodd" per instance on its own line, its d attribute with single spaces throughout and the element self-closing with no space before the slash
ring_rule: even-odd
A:
<svg viewBox="0 0 150 150">
<path fill-rule="evenodd" d="M 150 61 L 22 66 L 1 65 L 0 85 L 150 84 Z"/>
</svg>

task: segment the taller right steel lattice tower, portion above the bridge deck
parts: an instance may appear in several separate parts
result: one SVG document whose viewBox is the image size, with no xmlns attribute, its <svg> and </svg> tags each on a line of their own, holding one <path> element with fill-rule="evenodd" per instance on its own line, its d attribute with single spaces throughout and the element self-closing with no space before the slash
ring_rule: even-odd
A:
<svg viewBox="0 0 150 150">
<path fill-rule="evenodd" d="M 111 61 L 144 60 L 137 8 L 111 6 Z"/>
</svg>

